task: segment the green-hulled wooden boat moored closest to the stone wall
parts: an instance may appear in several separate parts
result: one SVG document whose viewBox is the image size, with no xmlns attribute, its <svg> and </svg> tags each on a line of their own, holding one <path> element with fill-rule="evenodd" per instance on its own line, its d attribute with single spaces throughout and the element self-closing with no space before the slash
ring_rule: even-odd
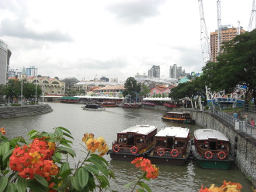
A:
<svg viewBox="0 0 256 192">
<path fill-rule="evenodd" d="M 228 169 L 233 162 L 230 142 L 220 131 L 197 129 L 191 146 L 195 162 L 202 168 Z"/>
</svg>

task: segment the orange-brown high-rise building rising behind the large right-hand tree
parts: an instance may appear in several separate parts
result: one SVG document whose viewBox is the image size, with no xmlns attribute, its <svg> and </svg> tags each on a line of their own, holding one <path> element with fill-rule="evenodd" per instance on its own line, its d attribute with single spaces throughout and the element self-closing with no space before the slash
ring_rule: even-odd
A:
<svg viewBox="0 0 256 192">
<path fill-rule="evenodd" d="M 245 33 L 245 30 L 243 30 L 243 27 L 228 28 L 228 26 L 225 26 L 225 27 L 222 27 L 220 31 L 221 31 L 220 39 L 222 42 L 232 40 L 232 38 L 234 38 L 236 35 Z M 216 62 L 217 61 L 216 57 L 218 56 L 218 30 L 215 30 L 215 32 L 210 33 L 210 47 L 211 47 L 212 61 Z"/>
</svg>

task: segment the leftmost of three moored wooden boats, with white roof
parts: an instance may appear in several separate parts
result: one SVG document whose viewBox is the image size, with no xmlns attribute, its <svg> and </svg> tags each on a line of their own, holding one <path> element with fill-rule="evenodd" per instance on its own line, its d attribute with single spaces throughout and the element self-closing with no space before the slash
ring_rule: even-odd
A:
<svg viewBox="0 0 256 192">
<path fill-rule="evenodd" d="M 135 125 L 118 132 L 112 150 L 108 151 L 110 158 L 131 161 L 143 153 L 150 152 L 154 147 L 156 132 L 157 127 L 154 125 Z"/>
</svg>

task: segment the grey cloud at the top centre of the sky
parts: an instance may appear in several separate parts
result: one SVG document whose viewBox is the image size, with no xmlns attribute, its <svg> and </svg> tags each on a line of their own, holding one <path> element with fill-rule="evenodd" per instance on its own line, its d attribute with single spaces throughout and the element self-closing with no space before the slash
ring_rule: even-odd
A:
<svg viewBox="0 0 256 192">
<path fill-rule="evenodd" d="M 133 0 L 133 1 L 117 1 L 108 5 L 106 9 L 115 14 L 118 21 L 126 24 L 141 24 L 147 18 L 160 15 L 158 8 L 165 3 L 166 0 Z"/>
</svg>

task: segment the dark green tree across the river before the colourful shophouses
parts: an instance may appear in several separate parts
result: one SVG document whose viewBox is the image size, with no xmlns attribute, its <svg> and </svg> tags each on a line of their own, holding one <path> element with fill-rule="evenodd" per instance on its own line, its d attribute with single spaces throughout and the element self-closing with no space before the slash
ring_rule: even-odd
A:
<svg viewBox="0 0 256 192">
<path fill-rule="evenodd" d="M 131 98 L 135 98 L 136 93 L 139 93 L 140 90 L 141 88 L 136 79 L 134 79 L 134 77 L 129 77 L 125 81 L 125 90 L 123 91 L 123 96 L 130 95 Z"/>
</svg>

